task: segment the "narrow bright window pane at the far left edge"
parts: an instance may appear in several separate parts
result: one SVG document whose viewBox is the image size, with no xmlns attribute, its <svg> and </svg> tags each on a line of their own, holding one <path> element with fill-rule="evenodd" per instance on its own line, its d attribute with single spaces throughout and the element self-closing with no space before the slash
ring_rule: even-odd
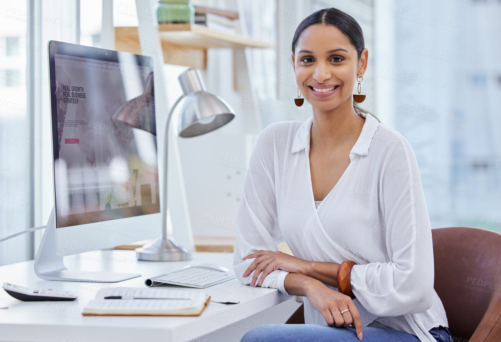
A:
<svg viewBox="0 0 501 342">
<path fill-rule="evenodd" d="M 31 224 L 30 168 L 32 149 L 27 110 L 26 2 L 0 2 L 0 237 Z M 0 242 L 0 266 L 31 257 L 30 236 Z"/>
</svg>

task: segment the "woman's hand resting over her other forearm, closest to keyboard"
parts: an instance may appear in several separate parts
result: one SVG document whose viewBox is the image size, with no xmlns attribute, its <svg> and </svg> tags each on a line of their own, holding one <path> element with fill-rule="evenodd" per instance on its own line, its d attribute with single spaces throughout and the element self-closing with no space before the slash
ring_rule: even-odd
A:
<svg viewBox="0 0 501 342">
<path fill-rule="evenodd" d="M 249 276 L 254 270 L 254 276 L 250 282 L 250 286 L 254 286 L 258 280 L 259 275 L 263 272 L 261 276 L 259 285 L 263 285 L 263 281 L 268 274 L 276 269 L 282 269 L 291 273 L 298 273 L 308 275 L 308 269 L 310 268 L 311 261 L 303 260 L 283 252 L 271 252 L 269 250 L 259 250 L 255 253 L 249 254 L 243 257 L 242 260 L 256 258 L 250 264 L 250 266 L 243 272 L 242 277 Z M 265 261 L 266 260 L 266 261 Z"/>
</svg>

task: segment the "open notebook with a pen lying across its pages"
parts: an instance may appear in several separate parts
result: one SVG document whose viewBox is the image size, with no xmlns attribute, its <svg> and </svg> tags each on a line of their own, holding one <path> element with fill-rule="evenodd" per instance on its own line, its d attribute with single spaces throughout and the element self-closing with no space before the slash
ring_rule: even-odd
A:
<svg viewBox="0 0 501 342">
<path fill-rule="evenodd" d="M 104 299 L 107 296 L 154 299 Z M 169 298 L 169 299 L 162 299 Z M 210 296 L 202 291 L 165 288 L 114 287 L 100 289 L 82 310 L 84 316 L 198 316 Z"/>
</svg>

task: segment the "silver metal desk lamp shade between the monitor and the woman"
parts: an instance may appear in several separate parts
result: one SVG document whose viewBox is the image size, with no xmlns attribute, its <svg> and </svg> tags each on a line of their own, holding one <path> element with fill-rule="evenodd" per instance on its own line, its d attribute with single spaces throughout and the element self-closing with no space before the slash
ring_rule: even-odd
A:
<svg viewBox="0 0 501 342">
<path fill-rule="evenodd" d="M 195 137 L 213 131 L 235 117 L 226 101 L 205 91 L 198 69 L 187 69 L 178 79 L 186 97 L 180 112 L 174 112 L 179 116 L 180 137 Z"/>
</svg>

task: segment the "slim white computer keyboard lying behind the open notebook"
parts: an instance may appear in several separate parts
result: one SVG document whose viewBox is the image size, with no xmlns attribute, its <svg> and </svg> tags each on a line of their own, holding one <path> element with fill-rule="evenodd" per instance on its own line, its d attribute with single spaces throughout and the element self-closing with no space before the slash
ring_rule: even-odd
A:
<svg viewBox="0 0 501 342">
<path fill-rule="evenodd" d="M 159 283 L 205 288 L 223 281 L 231 280 L 235 276 L 230 272 L 222 272 L 203 267 L 190 267 L 175 272 L 162 274 L 145 280 L 146 286 Z"/>
</svg>

